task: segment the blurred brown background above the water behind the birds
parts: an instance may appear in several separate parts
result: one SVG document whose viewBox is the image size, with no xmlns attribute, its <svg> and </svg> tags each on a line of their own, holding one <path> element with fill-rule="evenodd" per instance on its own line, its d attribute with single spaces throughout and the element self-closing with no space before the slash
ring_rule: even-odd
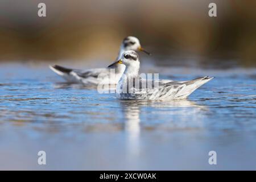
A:
<svg viewBox="0 0 256 182">
<path fill-rule="evenodd" d="M 38 16 L 40 2 L 46 3 L 47 17 Z M 208 16 L 210 2 L 217 4 L 217 17 Z M 255 5 L 238 0 L 1 0 L 0 61 L 110 61 L 122 39 L 133 35 L 158 60 L 194 56 L 253 67 Z"/>
</svg>

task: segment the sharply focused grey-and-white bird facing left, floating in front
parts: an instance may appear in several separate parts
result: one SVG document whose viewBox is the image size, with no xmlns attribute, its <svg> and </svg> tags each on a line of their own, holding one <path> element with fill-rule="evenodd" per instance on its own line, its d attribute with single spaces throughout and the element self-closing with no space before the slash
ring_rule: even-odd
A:
<svg viewBox="0 0 256 182">
<path fill-rule="evenodd" d="M 187 98 L 193 91 L 213 77 L 205 76 L 188 81 L 147 80 L 139 77 L 139 55 L 125 51 L 118 61 L 109 65 L 123 64 L 125 71 L 116 86 L 116 96 L 121 100 L 179 100 Z"/>
</svg>

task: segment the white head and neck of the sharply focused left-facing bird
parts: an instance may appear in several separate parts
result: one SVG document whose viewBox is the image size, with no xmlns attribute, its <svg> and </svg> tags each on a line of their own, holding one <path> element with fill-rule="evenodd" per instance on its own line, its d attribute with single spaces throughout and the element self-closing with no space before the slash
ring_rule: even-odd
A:
<svg viewBox="0 0 256 182">
<path fill-rule="evenodd" d="M 139 55 L 135 51 L 125 51 L 123 52 L 121 59 L 116 61 L 115 63 L 109 65 L 109 67 L 113 67 L 117 64 L 125 65 L 124 74 L 128 74 L 130 76 L 137 76 L 139 73 Z"/>
</svg>

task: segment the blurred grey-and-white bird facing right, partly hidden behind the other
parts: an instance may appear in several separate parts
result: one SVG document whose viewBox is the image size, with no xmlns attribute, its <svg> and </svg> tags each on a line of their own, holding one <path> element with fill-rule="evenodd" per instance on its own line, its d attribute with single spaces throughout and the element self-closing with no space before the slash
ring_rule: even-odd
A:
<svg viewBox="0 0 256 182">
<path fill-rule="evenodd" d="M 150 55 L 149 52 L 145 51 L 141 47 L 141 43 L 138 38 L 134 36 L 127 36 L 123 39 L 121 47 L 119 49 L 118 57 L 116 60 L 121 59 L 123 52 L 125 51 L 142 51 Z M 119 78 L 122 76 L 122 73 L 125 69 L 123 65 L 115 65 L 115 75 L 110 77 L 110 69 L 109 68 L 94 68 L 94 69 L 71 69 L 61 67 L 59 65 L 49 65 L 49 68 L 52 69 L 53 72 L 60 75 L 68 82 L 82 83 L 85 85 L 97 85 L 97 84 L 117 84 Z"/>
</svg>

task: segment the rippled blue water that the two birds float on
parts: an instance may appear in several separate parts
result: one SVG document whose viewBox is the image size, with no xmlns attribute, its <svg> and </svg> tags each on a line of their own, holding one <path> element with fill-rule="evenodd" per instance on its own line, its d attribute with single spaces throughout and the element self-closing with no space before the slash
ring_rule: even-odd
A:
<svg viewBox="0 0 256 182">
<path fill-rule="evenodd" d="M 1 64 L 0 169 L 256 169 L 256 69 L 151 67 L 216 78 L 183 101 L 119 101 L 46 64 Z"/>
</svg>

